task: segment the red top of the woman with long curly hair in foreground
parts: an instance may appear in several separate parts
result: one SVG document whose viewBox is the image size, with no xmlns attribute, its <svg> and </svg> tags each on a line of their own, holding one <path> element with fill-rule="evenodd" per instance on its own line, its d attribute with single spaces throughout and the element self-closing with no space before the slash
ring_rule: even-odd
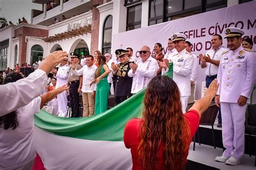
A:
<svg viewBox="0 0 256 170">
<path fill-rule="evenodd" d="M 197 128 L 199 126 L 200 117 L 196 110 L 190 110 L 186 114 L 184 114 L 184 117 L 188 123 L 188 126 L 190 127 L 190 133 L 191 133 L 191 141 L 194 136 L 194 134 L 197 131 Z M 127 122 L 125 129 L 124 129 L 124 144 L 125 147 L 131 148 L 131 154 L 132 154 L 132 169 L 139 169 L 138 166 L 138 146 L 140 143 L 139 139 L 139 132 L 140 132 L 140 121 L 139 118 L 131 119 L 129 122 Z M 191 142 L 190 141 L 190 142 Z M 164 143 L 162 143 L 158 150 L 158 162 L 157 162 L 157 169 L 163 169 L 164 166 L 164 158 L 163 158 L 163 152 L 164 152 Z M 187 159 L 188 150 L 185 151 L 184 160 Z"/>
</svg>

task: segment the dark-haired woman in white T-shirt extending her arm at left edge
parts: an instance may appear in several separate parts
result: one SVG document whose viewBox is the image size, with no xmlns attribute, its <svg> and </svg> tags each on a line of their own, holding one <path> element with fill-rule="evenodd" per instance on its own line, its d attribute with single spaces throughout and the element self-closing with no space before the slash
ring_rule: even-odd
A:
<svg viewBox="0 0 256 170">
<path fill-rule="evenodd" d="M 23 79 L 18 73 L 6 75 L 5 83 Z M 34 115 L 57 94 L 68 89 L 63 86 L 35 98 L 28 105 L 0 117 L 0 169 L 32 169 L 36 157 L 33 147 Z"/>
</svg>

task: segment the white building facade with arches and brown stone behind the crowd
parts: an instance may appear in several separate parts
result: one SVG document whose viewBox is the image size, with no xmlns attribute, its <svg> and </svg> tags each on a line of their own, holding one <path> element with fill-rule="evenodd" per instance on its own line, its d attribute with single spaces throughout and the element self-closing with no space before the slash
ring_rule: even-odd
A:
<svg viewBox="0 0 256 170">
<path fill-rule="evenodd" d="M 50 7 L 45 2 L 32 0 L 42 10 L 29 11 L 31 24 L 0 30 L 0 70 L 16 63 L 32 65 L 60 49 L 80 55 L 96 50 L 112 54 L 113 35 L 248 1 L 58 0 Z"/>
</svg>

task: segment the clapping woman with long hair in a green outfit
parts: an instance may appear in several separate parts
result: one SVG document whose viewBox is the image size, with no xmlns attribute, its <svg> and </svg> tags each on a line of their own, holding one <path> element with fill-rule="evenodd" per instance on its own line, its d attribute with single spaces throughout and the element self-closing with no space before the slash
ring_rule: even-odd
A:
<svg viewBox="0 0 256 170">
<path fill-rule="evenodd" d="M 107 99 L 109 98 L 109 82 L 107 82 L 107 75 L 110 73 L 109 67 L 106 65 L 106 58 L 104 55 L 98 56 L 99 67 L 95 73 L 96 94 L 95 94 L 95 115 L 98 115 L 107 110 Z"/>
</svg>

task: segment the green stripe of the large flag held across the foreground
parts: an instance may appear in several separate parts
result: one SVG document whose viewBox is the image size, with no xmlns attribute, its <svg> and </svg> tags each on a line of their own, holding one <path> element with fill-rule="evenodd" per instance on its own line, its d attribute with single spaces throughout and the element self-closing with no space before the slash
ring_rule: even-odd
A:
<svg viewBox="0 0 256 170">
<path fill-rule="evenodd" d="M 173 65 L 165 75 L 172 77 Z M 139 91 L 116 107 L 97 116 L 87 118 L 60 118 L 41 110 L 35 115 L 35 125 L 39 128 L 79 139 L 123 141 L 124 127 L 134 117 L 142 117 L 145 89 Z"/>
</svg>

